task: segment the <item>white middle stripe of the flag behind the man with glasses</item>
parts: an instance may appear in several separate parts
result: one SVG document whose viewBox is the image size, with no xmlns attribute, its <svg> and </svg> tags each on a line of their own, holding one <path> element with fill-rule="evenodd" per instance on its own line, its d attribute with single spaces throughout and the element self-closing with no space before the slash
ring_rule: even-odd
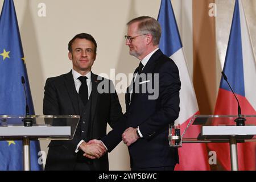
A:
<svg viewBox="0 0 256 182">
<path fill-rule="evenodd" d="M 180 73 L 180 114 L 175 123 L 181 124 L 191 118 L 197 111 L 199 111 L 199 108 L 197 106 L 195 90 L 189 77 L 183 48 L 180 48 L 173 55 L 171 55 L 171 59 L 174 60 L 175 64 L 179 68 Z"/>
</svg>

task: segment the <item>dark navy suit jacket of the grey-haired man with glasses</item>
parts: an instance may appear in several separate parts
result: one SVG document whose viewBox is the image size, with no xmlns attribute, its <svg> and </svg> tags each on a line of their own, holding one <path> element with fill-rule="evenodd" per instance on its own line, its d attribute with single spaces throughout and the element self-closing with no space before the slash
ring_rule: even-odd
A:
<svg viewBox="0 0 256 182">
<path fill-rule="evenodd" d="M 173 166 L 179 162 L 179 157 L 177 149 L 169 147 L 168 125 L 174 123 L 179 116 L 179 71 L 174 61 L 159 49 L 148 60 L 142 73 L 146 73 L 146 78 L 140 80 L 142 84 L 139 84 L 139 88 L 142 91 L 146 89 L 147 92 L 134 93 L 131 104 L 130 94 L 126 93 L 124 122 L 118 123 L 102 142 L 111 151 L 121 141 L 121 135 L 126 128 L 139 126 L 143 138 L 128 147 L 131 167 Z M 148 84 L 152 84 L 156 90 L 159 88 L 157 98 L 148 98 L 154 95 L 150 94 L 151 86 Z"/>
</svg>

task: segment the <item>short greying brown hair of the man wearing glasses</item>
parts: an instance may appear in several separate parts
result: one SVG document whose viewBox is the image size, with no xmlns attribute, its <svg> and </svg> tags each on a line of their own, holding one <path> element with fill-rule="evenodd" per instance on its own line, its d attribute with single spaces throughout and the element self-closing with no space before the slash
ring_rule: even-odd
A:
<svg viewBox="0 0 256 182">
<path fill-rule="evenodd" d="M 130 24 L 133 24 L 135 22 L 139 22 L 138 33 L 151 34 L 154 46 L 159 44 L 161 38 L 161 26 L 155 18 L 152 18 L 150 16 L 139 16 L 130 20 L 127 23 L 127 26 L 130 26 Z"/>
</svg>

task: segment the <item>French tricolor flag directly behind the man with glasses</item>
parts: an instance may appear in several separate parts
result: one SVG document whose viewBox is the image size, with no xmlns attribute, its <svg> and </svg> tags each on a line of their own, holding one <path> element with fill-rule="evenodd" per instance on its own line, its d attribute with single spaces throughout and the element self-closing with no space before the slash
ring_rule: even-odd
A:
<svg viewBox="0 0 256 182">
<path fill-rule="evenodd" d="M 175 123 L 180 123 L 181 134 L 188 125 L 191 117 L 199 114 L 195 90 L 188 73 L 187 63 L 185 61 L 183 46 L 181 44 L 179 30 L 172 9 L 170 0 L 162 0 L 158 22 L 162 28 L 162 36 L 159 48 L 167 56 L 170 56 L 179 68 L 181 90 L 180 90 L 180 114 Z M 199 133 L 198 128 L 195 133 Z M 208 170 L 208 155 L 205 144 L 183 143 L 179 148 L 180 163 L 176 165 L 175 170 Z"/>
</svg>

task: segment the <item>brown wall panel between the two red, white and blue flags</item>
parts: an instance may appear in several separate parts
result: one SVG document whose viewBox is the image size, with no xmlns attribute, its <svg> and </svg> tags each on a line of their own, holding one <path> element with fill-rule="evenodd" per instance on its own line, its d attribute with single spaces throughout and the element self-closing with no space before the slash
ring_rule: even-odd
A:
<svg viewBox="0 0 256 182">
<path fill-rule="evenodd" d="M 215 18 L 213 0 L 193 0 L 193 84 L 201 114 L 211 114 L 216 101 Z"/>
</svg>

